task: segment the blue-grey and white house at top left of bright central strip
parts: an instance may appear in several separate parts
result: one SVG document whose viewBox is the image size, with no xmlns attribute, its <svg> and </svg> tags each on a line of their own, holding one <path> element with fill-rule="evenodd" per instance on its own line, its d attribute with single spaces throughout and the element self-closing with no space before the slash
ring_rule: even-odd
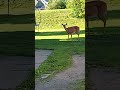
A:
<svg viewBox="0 0 120 90">
<path fill-rule="evenodd" d="M 44 10 L 48 5 L 48 0 L 35 0 L 35 9 Z"/>
</svg>

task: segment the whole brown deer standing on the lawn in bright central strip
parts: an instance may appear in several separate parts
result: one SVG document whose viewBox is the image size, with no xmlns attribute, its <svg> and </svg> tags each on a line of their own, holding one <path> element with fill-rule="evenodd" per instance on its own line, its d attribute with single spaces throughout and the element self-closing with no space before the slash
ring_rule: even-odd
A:
<svg viewBox="0 0 120 90">
<path fill-rule="evenodd" d="M 76 33 L 78 35 L 78 38 L 79 38 L 79 33 L 80 33 L 80 29 L 78 26 L 72 26 L 72 27 L 68 27 L 66 28 L 66 24 L 62 24 L 63 28 L 65 29 L 65 31 L 67 32 L 68 34 L 68 39 L 69 39 L 69 35 L 71 35 L 71 38 L 72 38 L 72 34 L 73 33 Z"/>
</svg>

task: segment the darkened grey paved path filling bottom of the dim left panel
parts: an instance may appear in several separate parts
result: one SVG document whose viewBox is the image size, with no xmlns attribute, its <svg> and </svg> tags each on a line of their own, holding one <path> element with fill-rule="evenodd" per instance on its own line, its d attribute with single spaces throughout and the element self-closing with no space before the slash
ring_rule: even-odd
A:
<svg viewBox="0 0 120 90">
<path fill-rule="evenodd" d="M 0 90 L 15 88 L 27 79 L 34 64 L 34 57 L 0 55 Z"/>
</svg>

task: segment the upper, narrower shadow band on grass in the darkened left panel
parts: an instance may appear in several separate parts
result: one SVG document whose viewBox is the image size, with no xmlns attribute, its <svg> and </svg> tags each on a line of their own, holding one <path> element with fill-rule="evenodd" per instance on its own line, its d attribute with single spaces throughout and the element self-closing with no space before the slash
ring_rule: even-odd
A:
<svg viewBox="0 0 120 90">
<path fill-rule="evenodd" d="M 34 14 L 0 15 L 0 24 L 31 24 L 35 22 Z"/>
</svg>

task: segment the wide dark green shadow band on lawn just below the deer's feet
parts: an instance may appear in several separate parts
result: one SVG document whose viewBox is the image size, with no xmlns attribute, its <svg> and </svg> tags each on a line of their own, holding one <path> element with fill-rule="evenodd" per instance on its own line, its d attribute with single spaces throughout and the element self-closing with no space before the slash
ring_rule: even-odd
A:
<svg viewBox="0 0 120 90">
<path fill-rule="evenodd" d="M 82 37 L 78 40 L 78 38 L 72 39 L 42 39 L 42 40 L 35 40 L 35 48 L 36 49 L 62 49 L 68 48 L 71 49 L 80 49 L 85 46 L 85 38 Z"/>
</svg>

